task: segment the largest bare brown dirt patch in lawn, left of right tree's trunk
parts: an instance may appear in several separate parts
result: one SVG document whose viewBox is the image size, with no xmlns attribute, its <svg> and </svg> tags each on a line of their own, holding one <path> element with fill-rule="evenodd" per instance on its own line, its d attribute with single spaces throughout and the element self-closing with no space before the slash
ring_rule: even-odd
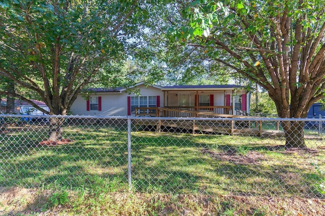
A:
<svg viewBox="0 0 325 216">
<path fill-rule="evenodd" d="M 257 151 L 249 151 L 245 155 L 240 154 L 237 152 L 237 150 L 234 148 L 230 148 L 229 150 L 225 152 L 220 151 L 212 151 L 209 149 L 202 149 L 202 153 L 209 154 L 211 157 L 221 160 L 221 161 L 230 161 L 235 164 L 258 164 L 259 161 L 264 160 L 265 157 L 263 154 L 257 152 Z"/>
</svg>

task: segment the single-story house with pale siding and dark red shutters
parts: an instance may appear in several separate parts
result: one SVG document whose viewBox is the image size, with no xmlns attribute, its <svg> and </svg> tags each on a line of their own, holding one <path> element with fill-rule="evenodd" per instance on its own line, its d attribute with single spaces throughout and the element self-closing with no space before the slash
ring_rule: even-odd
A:
<svg viewBox="0 0 325 216">
<path fill-rule="evenodd" d="M 128 91 L 138 89 L 139 95 Z M 240 85 L 146 86 L 139 82 L 129 89 L 88 89 L 89 97 L 79 94 L 71 107 L 73 115 L 127 116 L 145 107 L 247 115 L 250 93 Z"/>
</svg>

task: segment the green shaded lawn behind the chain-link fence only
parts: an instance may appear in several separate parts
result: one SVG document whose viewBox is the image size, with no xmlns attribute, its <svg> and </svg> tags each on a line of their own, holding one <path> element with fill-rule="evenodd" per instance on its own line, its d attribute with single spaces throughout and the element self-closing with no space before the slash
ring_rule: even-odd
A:
<svg viewBox="0 0 325 216">
<path fill-rule="evenodd" d="M 124 126 L 67 126 L 71 144 L 41 146 L 47 129 L 13 128 L 0 134 L 0 186 L 127 192 Z M 147 194 L 202 194 L 324 198 L 322 138 L 305 150 L 285 150 L 283 138 L 132 132 L 132 190 Z M 318 169 L 315 169 L 318 164 Z M 79 200 L 79 201 L 78 201 Z M 87 201 L 89 202 L 89 200 Z M 77 204 L 76 204 L 77 205 Z"/>
</svg>

